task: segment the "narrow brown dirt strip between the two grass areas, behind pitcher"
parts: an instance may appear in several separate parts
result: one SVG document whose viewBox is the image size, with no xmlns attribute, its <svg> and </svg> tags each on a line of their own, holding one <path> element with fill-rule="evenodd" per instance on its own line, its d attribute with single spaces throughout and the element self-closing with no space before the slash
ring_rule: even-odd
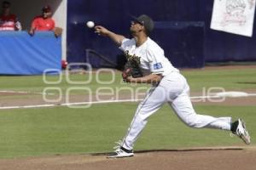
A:
<svg viewBox="0 0 256 170">
<path fill-rule="evenodd" d="M 248 94 L 256 94 L 256 90 L 246 90 L 243 91 Z M 201 93 L 191 93 L 193 96 L 201 96 L 203 94 Z M 46 102 L 43 99 L 42 94 L 19 94 L 19 93 L 1 93 L 0 96 L 2 96 L 1 102 L 0 102 L 0 109 L 1 107 L 11 107 L 11 106 L 26 106 L 26 105 L 61 105 L 66 103 L 65 96 L 62 96 L 62 99 L 60 102 Z M 4 98 L 4 97 L 8 98 Z M 12 97 L 13 96 L 13 97 Z M 15 96 L 22 96 L 19 98 L 15 98 Z M 24 98 L 23 98 L 24 97 Z M 51 96 L 50 96 L 51 97 Z M 107 96 L 106 100 L 109 100 L 112 96 Z M 57 97 L 52 96 L 52 99 L 56 99 Z M 115 96 L 113 96 L 113 99 Z M 102 101 L 104 100 L 104 96 L 101 97 Z M 131 99 L 127 94 L 120 94 L 119 99 Z M 143 97 L 141 98 L 143 99 Z M 212 101 L 213 100 L 213 101 Z M 192 99 L 192 103 L 194 105 L 244 105 L 244 106 L 252 106 L 256 103 L 256 96 L 247 96 L 247 97 L 236 97 L 236 98 L 230 98 L 226 97 L 224 101 L 219 102 L 219 100 L 209 100 L 209 99 Z M 84 95 L 73 95 L 69 97 L 70 103 L 76 103 L 76 102 L 89 102 L 89 101 L 98 101 L 96 100 L 96 96 L 91 96 L 90 100 L 88 97 Z M 214 102 L 217 101 L 217 102 Z"/>
</svg>

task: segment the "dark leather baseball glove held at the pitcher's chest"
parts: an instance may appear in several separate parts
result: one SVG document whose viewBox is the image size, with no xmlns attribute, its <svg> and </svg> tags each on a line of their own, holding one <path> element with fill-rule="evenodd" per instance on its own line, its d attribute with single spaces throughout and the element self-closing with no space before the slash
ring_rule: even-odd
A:
<svg viewBox="0 0 256 170">
<path fill-rule="evenodd" d="M 124 81 L 127 77 L 143 77 L 143 71 L 140 68 L 140 57 L 136 55 L 130 55 L 128 54 L 128 51 L 125 51 L 125 57 L 127 59 L 127 62 L 125 64 L 125 69 L 122 72 L 122 77 Z"/>
</svg>

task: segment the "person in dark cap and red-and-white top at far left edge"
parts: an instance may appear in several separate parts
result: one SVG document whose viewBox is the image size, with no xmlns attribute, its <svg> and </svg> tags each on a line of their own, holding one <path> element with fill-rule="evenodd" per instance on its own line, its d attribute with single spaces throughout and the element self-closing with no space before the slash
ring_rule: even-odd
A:
<svg viewBox="0 0 256 170">
<path fill-rule="evenodd" d="M 10 14 L 10 5 L 8 1 L 2 3 L 2 14 L 0 15 L 0 31 L 20 31 L 21 25 L 15 14 Z"/>
</svg>

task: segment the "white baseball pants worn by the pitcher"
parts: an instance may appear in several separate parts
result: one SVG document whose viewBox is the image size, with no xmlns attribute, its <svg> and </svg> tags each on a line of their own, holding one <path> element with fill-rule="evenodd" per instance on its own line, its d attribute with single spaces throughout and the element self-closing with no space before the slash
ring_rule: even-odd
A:
<svg viewBox="0 0 256 170">
<path fill-rule="evenodd" d="M 231 117 L 212 117 L 195 113 L 189 99 L 189 85 L 179 72 L 172 72 L 163 77 L 157 87 L 152 87 L 145 99 L 138 105 L 137 111 L 131 122 L 131 127 L 123 140 L 123 147 L 132 150 L 137 137 L 147 124 L 148 116 L 151 116 L 168 103 L 181 121 L 189 127 L 208 127 L 230 130 Z"/>
</svg>

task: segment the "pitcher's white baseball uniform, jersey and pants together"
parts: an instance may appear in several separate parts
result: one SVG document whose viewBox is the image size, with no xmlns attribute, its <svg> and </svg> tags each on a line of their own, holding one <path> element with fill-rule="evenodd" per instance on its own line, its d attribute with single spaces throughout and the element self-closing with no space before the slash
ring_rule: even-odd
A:
<svg viewBox="0 0 256 170">
<path fill-rule="evenodd" d="M 172 106 L 177 116 L 189 127 L 208 127 L 230 130 L 231 117 L 212 117 L 195 113 L 189 99 L 189 85 L 179 71 L 172 66 L 165 57 L 164 50 L 148 37 L 141 46 L 136 46 L 136 41 L 124 39 L 119 47 L 129 54 L 140 58 L 143 75 L 161 74 L 160 83 L 153 85 L 145 99 L 138 105 L 137 111 L 131 122 L 131 127 L 123 139 L 122 146 L 132 150 L 133 144 L 147 123 L 148 116 L 158 111 L 162 105 L 168 103 Z"/>
</svg>

